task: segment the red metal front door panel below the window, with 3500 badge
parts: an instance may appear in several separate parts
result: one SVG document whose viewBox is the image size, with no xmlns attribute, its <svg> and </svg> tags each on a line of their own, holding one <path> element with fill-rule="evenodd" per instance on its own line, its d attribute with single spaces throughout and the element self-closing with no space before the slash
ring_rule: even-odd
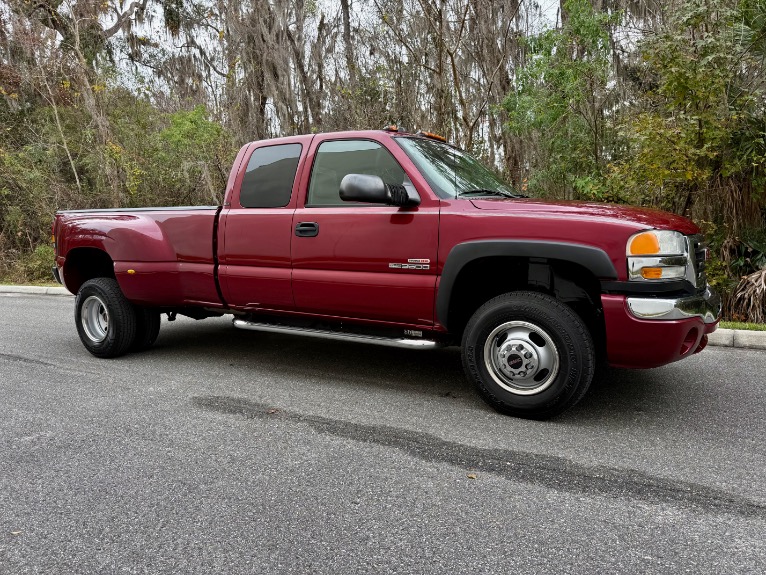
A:
<svg viewBox="0 0 766 575">
<path fill-rule="evenodd" d="M 318 233 L 293 238 L 298 310 L 432 325 L 438 208 L 302 208 L 301 222 Z"/>
</svg>

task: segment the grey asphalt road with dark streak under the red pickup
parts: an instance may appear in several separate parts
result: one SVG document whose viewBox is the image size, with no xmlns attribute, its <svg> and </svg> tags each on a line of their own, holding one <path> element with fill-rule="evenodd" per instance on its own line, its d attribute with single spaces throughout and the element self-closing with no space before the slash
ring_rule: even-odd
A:
<svg viewBox="0 0 766 575">
<path fill-rule="evenodd" d="M 501 416 L 456 349 L 163 323 L 98 360 L 0 296 L 0 573 L 763 573 L 766 351 Z"/>
</svg>

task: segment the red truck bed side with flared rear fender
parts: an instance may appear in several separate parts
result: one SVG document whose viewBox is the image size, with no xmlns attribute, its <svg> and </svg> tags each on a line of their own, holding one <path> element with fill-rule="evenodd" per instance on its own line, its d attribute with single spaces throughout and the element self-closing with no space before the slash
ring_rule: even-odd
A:
<svg viewBox="0 0 766 575">
<path fill-rule="evenodd" d="M 113 275 L 125 296 L 150 306 L 220 307 L 213 236 L 219 208 L 83 210 L 56 214 L 56 265 L 72 293 Z"/>
</svg>

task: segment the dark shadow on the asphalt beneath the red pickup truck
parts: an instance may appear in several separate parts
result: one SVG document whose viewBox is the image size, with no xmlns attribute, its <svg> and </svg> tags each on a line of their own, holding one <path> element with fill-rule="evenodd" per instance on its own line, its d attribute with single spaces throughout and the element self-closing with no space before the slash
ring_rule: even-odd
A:
<svg viewBox="0 0 766 575">
<path fill-rule="evenodd" d="M 494 413 L 466 380 L 457 347 L 413 351 L 233 329 L 225 319 L 163 324 L 154 360 L 215 363 L 234 375 L 288 377 L 333 386 L 365 386 L 410 394 L 438 396 L 456 409 Z M 130 357 L 140 357 L 139 355 Z M 666 416 L 672 402 L 686 403 L 675 366 L 654 370 L 606 368 L 574 408 L 554 418 L 559 424 L 635 421 L 637 415 Z M 505 417 L 498 414 L 498 417 Z"/>
</svg>

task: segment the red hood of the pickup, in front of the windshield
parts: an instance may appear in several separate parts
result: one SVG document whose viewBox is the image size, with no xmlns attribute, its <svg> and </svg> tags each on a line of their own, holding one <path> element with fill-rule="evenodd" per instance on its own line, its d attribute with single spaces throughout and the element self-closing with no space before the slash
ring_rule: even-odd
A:
<svg viewBox="0 0 766 575">
<path fill-rule="evenodd" d="M 542 201 L 519 198 L 487 198 L 470 200 L 480 210 L 524 214 L 531 217 L 557 219 L 588 219 L 605 222 L 623 222 L 639 228 L 676 230 L 684 234 L 699 233 L 699 228 L 687 218 L 654 210 L 618 204 L 599 204 L 595 202 Z"/>
</svg>

